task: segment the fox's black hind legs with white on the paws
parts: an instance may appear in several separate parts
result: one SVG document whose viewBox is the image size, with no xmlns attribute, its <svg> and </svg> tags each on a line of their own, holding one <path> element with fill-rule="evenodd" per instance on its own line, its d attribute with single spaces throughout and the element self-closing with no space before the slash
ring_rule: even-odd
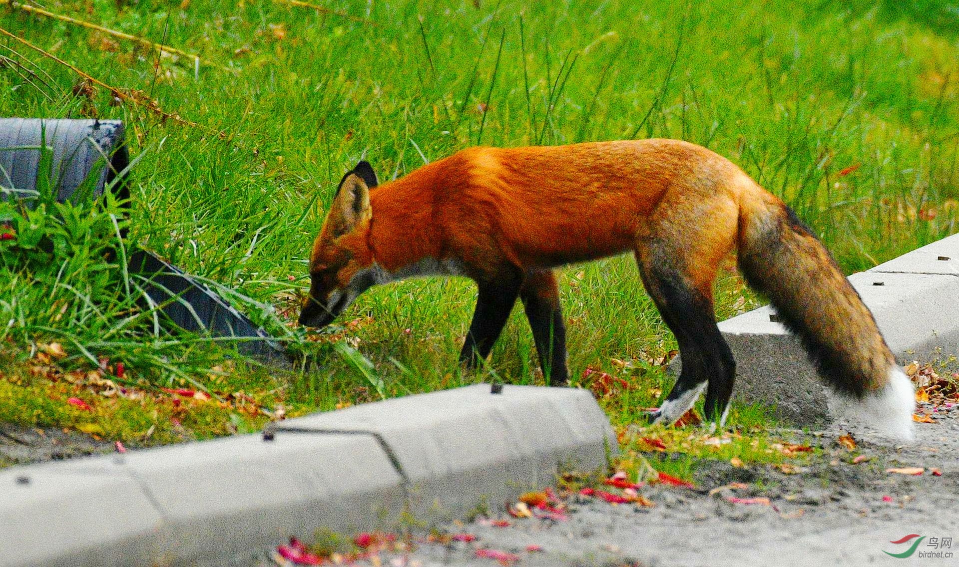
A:
<svg viewBox="0 0 959 567">
<path fill-rule="evenodd" d="M 721 425 L 733 393 L 736 362 L 716 327 L 711 294 L 700 291 L 662 256 L 641 250 L 637 261 L 646 291 L 675 334 L 683 360 L 679 379 L 652 421 L 678 420 L 705 389 L 706 418 Z"/>
</svg>

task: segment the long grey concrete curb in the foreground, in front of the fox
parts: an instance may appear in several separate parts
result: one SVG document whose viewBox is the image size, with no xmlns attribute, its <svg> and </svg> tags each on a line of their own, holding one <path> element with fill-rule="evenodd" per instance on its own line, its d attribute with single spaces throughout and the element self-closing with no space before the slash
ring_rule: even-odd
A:
<svg viewBox="0 0 959 567">
<path fill-rule="evenodd" d="M 0 566 L 217 565 L 318 528 L 426 527 L 502 509 L 617 450 L 590 393 L 561 388 L 480 384 L 281 425 L 272 441 L 0 472 Z"/>
</svg>

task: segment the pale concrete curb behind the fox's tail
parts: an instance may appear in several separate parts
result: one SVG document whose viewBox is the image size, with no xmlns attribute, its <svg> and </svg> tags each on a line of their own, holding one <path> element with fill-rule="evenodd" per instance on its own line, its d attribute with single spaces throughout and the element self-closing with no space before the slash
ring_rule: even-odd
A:
<svg viewBox="0 0 959 567">
<path fill-rule="evenodd" d="M 850 276 L 900 363 L 959 353 L 959 235 Z M 829 390 L 799 340 L 764 306 L 719 324 L 737 362 L 735 397 L 802 425 L 830 420 Z M 677 373 L 678 359 L 670 365 Z"/>
</svg>

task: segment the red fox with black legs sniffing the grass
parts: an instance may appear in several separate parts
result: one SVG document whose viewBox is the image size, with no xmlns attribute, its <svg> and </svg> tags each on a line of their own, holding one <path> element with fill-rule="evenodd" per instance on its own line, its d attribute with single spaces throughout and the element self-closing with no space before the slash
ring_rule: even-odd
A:
<svg viewBox="0 0 959 567">
<path fill-rule="evenodd" d="M 485 359 L 519 298 L 544 373 L 564 385 L 552 269 L 632 252 L 683 357 L 651 420 L 678 420 L 705 389 L 707 419 L 722 425 L 736 364 L 716 328 L 713 279 L 734 248 L 825 381 L 908 438 L 912 383 L 829 252 L 731 161 L 678 140 L 471 147 L 380 187 L 362 161 L 340 180 L 316 238 L 299 323 L 328 325 L 376 283 L 465 276 L 479 298 L 460 361 Z"/>
</svg>

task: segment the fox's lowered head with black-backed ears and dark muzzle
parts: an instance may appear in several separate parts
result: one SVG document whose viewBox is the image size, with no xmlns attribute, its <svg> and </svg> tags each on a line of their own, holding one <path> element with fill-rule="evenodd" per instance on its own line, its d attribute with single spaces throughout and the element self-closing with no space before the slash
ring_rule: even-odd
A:
<svg viewBox="0 0 959 567">
<path fill-rule="evenodd" d="M 303 302 L 300 325 L 329 325 L 358 295 L 376 283 L 368 240 L 373 217 L 369 190 L 376 186 L 376 173 L 365 161 L 339 181 L 333 205 L 313 244 L 310 295 Z"/>
</svg>

